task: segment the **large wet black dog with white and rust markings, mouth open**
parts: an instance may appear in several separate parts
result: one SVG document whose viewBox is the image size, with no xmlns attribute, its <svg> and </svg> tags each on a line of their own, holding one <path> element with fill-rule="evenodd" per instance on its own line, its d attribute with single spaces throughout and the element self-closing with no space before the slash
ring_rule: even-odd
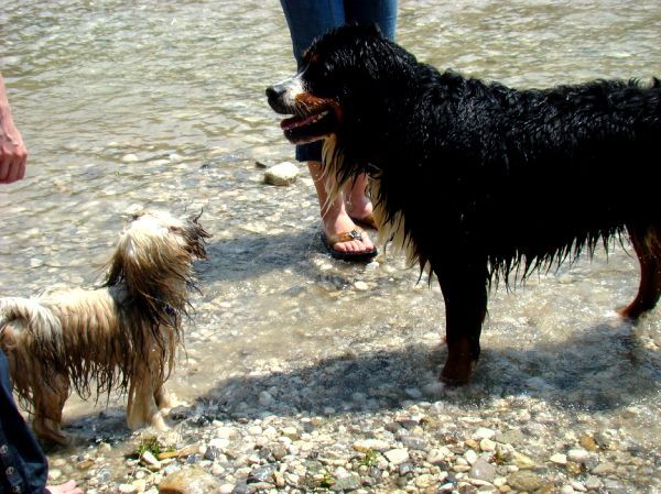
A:
<svg viewBox="0 0 661 494">
<path fill-rule="evenodd" d="M 375 28 L 317 39 L 267 89 L 292 143 L 324 139 L 337 194 L 358 174 L 381 240 L 437 276 L 446 383 L 468 381 L 491 284 L 524 279 L 628 237 L 641 266 L 636 319 L 661 294 L 661 88 L 598 80 L 517 90 L 438 73 Z M 511 275 L 511 277 L 510 277 Z"/>
</svg>

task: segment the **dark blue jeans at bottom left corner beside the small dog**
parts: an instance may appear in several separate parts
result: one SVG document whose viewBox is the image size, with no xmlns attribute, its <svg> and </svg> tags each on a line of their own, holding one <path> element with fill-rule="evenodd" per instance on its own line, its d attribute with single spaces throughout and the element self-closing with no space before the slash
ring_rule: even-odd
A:
<svg viewBox="0 0 661 494">
<path fill-rule="evenodd" d="M 9 363 L 0 350 L 0 494 L 44 494 L 48 464 L 17 408 Z"/>
</svg>

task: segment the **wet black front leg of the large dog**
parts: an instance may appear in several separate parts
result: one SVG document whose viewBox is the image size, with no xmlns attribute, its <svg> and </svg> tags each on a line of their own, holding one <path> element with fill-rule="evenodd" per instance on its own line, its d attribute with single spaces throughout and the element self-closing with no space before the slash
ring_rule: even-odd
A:
<svg viewBox="0 0 661 494">
<path fill-rule="evenodd" d="M 468 382 L 479 358 L 479 336 L 487 314 L 487 262 L 449 259 L 434 268 L 445 299 L 447 360 L 441 381 Z"/>
</svg>

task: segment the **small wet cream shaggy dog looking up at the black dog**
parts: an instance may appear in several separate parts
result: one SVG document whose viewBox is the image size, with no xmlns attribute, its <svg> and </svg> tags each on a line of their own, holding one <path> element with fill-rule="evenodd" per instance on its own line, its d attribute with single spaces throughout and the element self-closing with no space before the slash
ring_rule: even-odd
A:
<svg viewBox="0 0 661 494">
<path fill-rule="evenodd" d="M 61 424 L 71 386 L 97 399 L 128 389 L 129 427 L 166 428 L 164 382 L 182 339 L 192 261 L 205 259 L 208 237 L 197 218 L 145 210 L 121 233 L 101 288 L 0 299 L 0 345 L 39 437 L 68 442 Z"/>
</svg>

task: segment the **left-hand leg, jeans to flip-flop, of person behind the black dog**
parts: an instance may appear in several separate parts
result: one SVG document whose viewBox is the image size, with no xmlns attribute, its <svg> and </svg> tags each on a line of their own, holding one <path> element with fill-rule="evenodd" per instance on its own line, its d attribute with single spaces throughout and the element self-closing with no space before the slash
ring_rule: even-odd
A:
<svg viewBox="0 0 661 494">
<path fill-rule="evenodd" d="M 314 2 L 308 0 L 281 0 L 281 4 L 290 29 L 294 57 L 299 68 L 301 68 L 303 53 L 314 39 L 345 23 L 343 0 Z M 338 197 L 333 202 L 328 202 L 326 177 L 323 174 L 321 163 L 322 145 L 322 142 L 314 142 L 296 146 L 296 160 L 307 163 L 319 200 L 324 234 L 326 238 L 333 239 L 338 234 L 354 231 L 356 224 L 347 213 L 344 197 Z M 362 184 L 362 190 L 365 190 L 365 183 Z M 365 194 L 362 194 L 364 196 Z M 364 211 L 367 207 L 364 205 L 365 200 L 362 198 L 355 198 L 350 194 L 347 201 L 357 205 L 357 218 L 362 219 L 366 216 Z M 371 212 L 371 204 L 369 205 L 369 212 Z M 361 238 L 337 242 L 333 248 L 340 253 L 365 253 L 373 250 L 373 243 L 367 234 L 362 234 Z"/>
</svg>

